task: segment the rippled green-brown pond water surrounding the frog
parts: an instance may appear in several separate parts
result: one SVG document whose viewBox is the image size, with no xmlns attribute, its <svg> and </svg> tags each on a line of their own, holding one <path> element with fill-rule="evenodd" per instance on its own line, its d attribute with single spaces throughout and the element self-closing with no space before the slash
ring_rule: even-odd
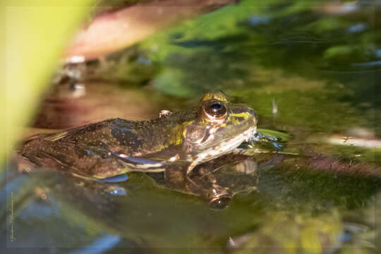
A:
<svg viewBox="0 0 381 254">
<path fill-rule="evenodd" d="M 289 135 L 285 157 L 253 155 L 258 182 L 242 184 L 255 190 L 222 210 L 145 174 L 90 183 L 10 165 L 2 244 L 9 253 L 380 253 L 380 14 L 378 1 L 241 1 L 88 63 L 85 96 L 47 99 L 35 126 L 50 128 L 25 135 L 151 119 L 218 89 L 253 107 L 259 128 Z"/>
</svg>

